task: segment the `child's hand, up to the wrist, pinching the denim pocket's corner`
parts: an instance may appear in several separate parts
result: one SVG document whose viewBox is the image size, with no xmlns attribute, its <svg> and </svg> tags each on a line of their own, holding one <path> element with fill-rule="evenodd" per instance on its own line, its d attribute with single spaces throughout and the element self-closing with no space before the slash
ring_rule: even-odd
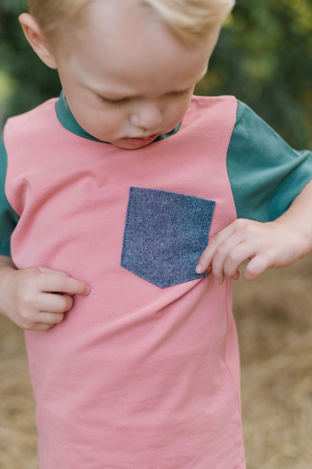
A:
<svg viewBox="0 0 312 469">
<path fill-rule="evenodd" d="M 268 267 L 286 267 L 305 255 L 305 239 L 294 225 L 279 220 L 261 223 L 237 219 L 220 231 L 203 251 L 198 264 L 205 272 L 212 266 L 215 282 L 225 275 L 239 279 L 239 265 L 249 259 L 244 277 L 254 280 Z"/>
</svg>

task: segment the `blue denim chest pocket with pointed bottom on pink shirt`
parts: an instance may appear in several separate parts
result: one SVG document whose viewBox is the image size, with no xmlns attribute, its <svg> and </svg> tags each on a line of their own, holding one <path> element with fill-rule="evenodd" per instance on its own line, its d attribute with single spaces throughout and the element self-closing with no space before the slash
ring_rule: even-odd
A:
<svg viewBox="0 0 312 469">
<path fill-rule="evenodd" d="M 160 288 L 205 277 L 195 268 L 208 244 L 215 204 L 130 187 L 120 265 Z"/>
</svg>

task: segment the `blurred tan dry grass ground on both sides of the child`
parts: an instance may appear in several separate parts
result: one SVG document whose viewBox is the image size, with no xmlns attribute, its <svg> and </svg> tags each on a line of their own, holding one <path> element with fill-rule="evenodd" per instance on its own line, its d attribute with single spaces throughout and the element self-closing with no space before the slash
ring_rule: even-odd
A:
<svg viewBox="0 0 312 469">
<path fill-rule="evenodd" d="M 312 468 L 312 256 L 235 283 L 248 469 Z M 39 469 L 23 331 L 0 317 L 0 468 Z M 214 468 L 207 468 L 214 469 Z"/>
</svg>

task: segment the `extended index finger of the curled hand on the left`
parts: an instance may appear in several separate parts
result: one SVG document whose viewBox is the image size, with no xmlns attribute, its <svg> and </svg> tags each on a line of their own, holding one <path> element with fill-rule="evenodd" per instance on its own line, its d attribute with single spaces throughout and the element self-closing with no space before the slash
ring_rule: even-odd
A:
<svg viewBox="0 0 312 469">
<path fill-rule="evenodd" d="M 58 275 L 56 273 L 45 273 L 38 279 L 38 287 L 42 292 L 62 292 L 73 295 L 88 295 L 90 287 L 80 280 Z"/>
</svg>

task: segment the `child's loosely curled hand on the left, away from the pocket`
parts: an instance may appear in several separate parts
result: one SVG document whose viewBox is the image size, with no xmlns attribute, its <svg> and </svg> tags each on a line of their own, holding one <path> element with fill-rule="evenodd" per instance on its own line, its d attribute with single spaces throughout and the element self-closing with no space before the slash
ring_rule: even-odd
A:
<svg viewBox="0 0 312 469">
<path fill-rule="evenodd" d="M 46 331 L 64 319 L 72 295 L 88 295 L 88 285 L 47 267 L 0 272 L 0 313 L 22 329 Z M 58 293 L 64 293 L 58 295 Z"/>
</svg>

